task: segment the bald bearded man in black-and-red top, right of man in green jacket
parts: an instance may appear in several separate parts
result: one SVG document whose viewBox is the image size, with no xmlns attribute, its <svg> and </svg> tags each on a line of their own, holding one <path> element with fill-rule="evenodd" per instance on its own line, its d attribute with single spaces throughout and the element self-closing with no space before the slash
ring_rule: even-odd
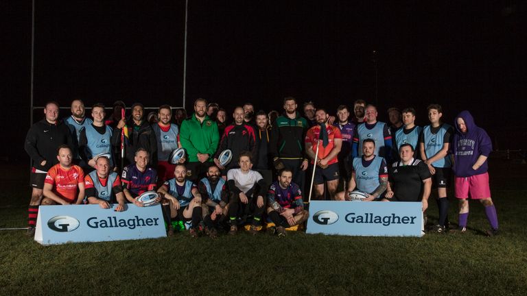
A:
<svg viewBox="0 0 527 296">
<path fill-rule="evenodd" d="M 256 133 L 253 125 L 244 121 L 244 109 L 236 107 L 233 112 L 234 123 L 227 125 L 220 140 L 220 145 L 214 156 L 214 163 L 222 170 L 222 176 L 227 175 L 229 169 L 238 167 L 236 162 L 230 162 L 223 167 L 220 163 L 220 154 L 229 149 L 233 153 L 233 159 L 238 159 L 242 151 L 250 151 L 251 158 L 257 158 L 258 146 L 256 143 Z"/>
</svg>

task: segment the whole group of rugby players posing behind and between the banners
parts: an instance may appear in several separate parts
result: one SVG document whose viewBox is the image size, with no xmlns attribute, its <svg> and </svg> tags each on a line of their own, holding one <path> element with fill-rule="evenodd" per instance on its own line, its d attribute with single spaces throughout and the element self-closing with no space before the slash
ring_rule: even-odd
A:
<svg viewBox="0 0 527 296">
<path fill-rule="evenodd" d="M 312 102 L 304 104 L 303 116 L 297 108 L 294 97 L 283 99 L 281 116 L 255 113 L 246 103 L 233 110 L 233 123 L 227 124 L 218 104 L 196 99 L 194 113 L 178 116 L 178 126 L 168 105 L 145 116 L 143 105 L 134 103 L 127 118 L 121 116 L 124 103 L 117 101 L 105 119 L 105 108 L 97 103 L 92 120 L 75 99 L 71 116 L 60 120 L 58 103 L 49 102 L 45 119 L 32 125 L 25 140 L 33 162 L 27 233 L 34 234 L 39 206 L 99 204 L 123 211 L 126 204 L 143 206 L 137 197 L 155 190 L 169 235 L 174 221 L 189 224 L 191 236 L 212 238 L 221 229 L 237 234 L 244 224 L 257 234 L 268 221 L 272 234 L 285 236 L 286 228 L 309 216 L 307 191 L 309 199 L 346 201 L 360 190 L 364 201 L 416 201 L 425 213 L 432 187 L 439 219 L 430 231 L 445 232 L 453 172 L 457 231 L 466 230 L 471 197 L 484 205 L 491 224 L 487 233 L 497 234 L 487 173 L 491 141 L 469 112 L 456 116 L 454 128 L 441 121 L 437 104 L 428 106 L 425 127 L 414 124 L 412 108 L 390 108 L 388 126 L 377 121 L 377 108 L 362 100 L 353 103 L 353 116 L 344 105 L 336 116 Z M 178 148 L 186 157 L 173 164 L 169 156 Z M 227 164 L 220 161 L 226 149 L 232 153 Z"/>
</svg>

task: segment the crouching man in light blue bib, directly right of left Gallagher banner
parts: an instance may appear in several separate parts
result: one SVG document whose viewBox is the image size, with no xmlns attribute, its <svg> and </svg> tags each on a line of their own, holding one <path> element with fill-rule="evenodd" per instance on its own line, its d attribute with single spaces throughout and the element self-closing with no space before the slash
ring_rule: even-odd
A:
<svg viewBox="0 0 527 296">
<path fill-rule="evenodd" d="M 197 237 L 196 227 L 202 219 L 201 195 L 198 192 L 198 186 L 186 180 L 187 167 L 185 164 L 176 165 L 174 176 L 157 190 L 164 199 L 163 210 L 170 213 L 167 221 L 169 235 L 174 232 L 172 230 L 172 219 L 177 217 L 183 221 L 191 221 L 189 233 L 192 237 Z"/>
</svg>

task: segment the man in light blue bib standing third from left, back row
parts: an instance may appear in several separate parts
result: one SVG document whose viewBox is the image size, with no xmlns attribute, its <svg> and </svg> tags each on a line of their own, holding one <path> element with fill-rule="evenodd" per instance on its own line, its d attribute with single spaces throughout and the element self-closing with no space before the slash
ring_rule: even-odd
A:
<svg viewBox="0 0 527 296">
<path fill-rule="evenodd" d="M 113 151 L 112 151 L 112 134 L 111 127 L 104 123 L 104 105 L 96 103 L 91 108 L 91 116 L 93 122 L 80 130 L 79 136 L 79 150 L 80 156 L 89 165 L 89 168 L 96 169 L 95 156 L 100 153 L 108 153 L 110 155 L 110 167 L 113 167 Z"/>
</svg>

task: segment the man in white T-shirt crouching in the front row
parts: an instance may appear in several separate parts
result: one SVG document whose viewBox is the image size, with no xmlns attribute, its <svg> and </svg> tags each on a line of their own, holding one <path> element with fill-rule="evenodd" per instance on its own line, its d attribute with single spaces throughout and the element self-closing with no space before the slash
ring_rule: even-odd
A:
<svg viewBox="0 0 527 296">
<path fill-rule="evenodd" d="M 253 171 L 251 154 L 244 151 L 239 154 L 239 169 L 231 169 L 227 172 L 227 184 L 231 191 L 229 201 L 229 219 L 231 220 L 231 230 L 229 234 L 234 235 L 238 230 L 238 217 L 246 218 L 253 215 L 253 223 L 250 225 L 249 232 L 257 234 L 261 225 L 261 216 L 264 214 L 267 185 L 260 173 Z"/>
</svg>

